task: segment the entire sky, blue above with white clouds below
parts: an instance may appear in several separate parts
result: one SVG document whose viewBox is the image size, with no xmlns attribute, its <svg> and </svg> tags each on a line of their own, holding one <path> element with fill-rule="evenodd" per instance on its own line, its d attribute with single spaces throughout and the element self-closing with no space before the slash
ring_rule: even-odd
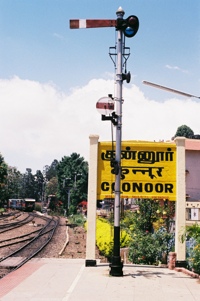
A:
<svg viewBox="0 0 200 301">
<path fill-rule="evenodd" d="M 35 172 L 73 151 L 88 160 L 89 134 L 111 139 L 110 125 L 101 122 L 95 106 L 114 94 L 108 53 L 115 28 L 70 29 L 69 20 L 116 19 L 119 6 L 124 18 L 139 18 L 136 36 L 125 41 L 132 77 L 124 83 L 124 140 L 170 140 L 182 124 L 199 134 L 198 98 L 142 84 L 200 96 L 199 1 L 2 0 L 0 151 L 8 164 Z"/>
</svg>

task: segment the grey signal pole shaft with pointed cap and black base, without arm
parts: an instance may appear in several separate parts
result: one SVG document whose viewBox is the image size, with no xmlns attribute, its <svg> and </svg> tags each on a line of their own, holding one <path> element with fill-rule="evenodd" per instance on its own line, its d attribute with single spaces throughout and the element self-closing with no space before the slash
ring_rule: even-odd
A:
<svg viewBox="0 0 200 301">
<path fill-rule="evenodd" d="M 124 11 L 121 7 L 116 12 L 118 19 L 123 19 Z M 123 276 L 123 263 L 120 256 L 120 194 L 121 194 L 121 129 L 122 129 L 122 51 L 123 51 L 123 33 L 122 29 L 117 31 L 117 93 L 116 93 L 116 143 L 115 160 L 118 162 L 119 173 L 115 174 L 115 202 L 114 202 L 114 240 L 113 256 L 110 264 L 110 275 Z"/>
</svg>

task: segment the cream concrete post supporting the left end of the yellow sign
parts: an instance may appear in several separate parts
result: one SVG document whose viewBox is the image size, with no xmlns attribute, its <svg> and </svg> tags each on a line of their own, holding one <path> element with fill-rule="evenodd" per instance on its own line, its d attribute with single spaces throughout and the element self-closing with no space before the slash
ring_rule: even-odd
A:
<svg viewBox="0 0 200 301">
<path fill-rule="evenodd" d="M 87 245 L 85 266 L 96 266 L 97 155 L 99 135 L 90 135 Z"/>
</svg>

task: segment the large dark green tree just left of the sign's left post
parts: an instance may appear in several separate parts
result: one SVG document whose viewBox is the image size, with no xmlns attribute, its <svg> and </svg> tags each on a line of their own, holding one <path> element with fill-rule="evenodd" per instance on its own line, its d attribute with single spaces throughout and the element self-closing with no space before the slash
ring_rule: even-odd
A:
<svg viewBox="0 0 200 301">
<path fill-rule="evenodd" d="M 70 193 L 70 214 L 76 211 L 76 206 L 83 200 L 87 199 L 88 194 L 88 162 L 84 161 L 80 154 L 72 153 L 70 157 L 64 156 L 57 165 L 57 177 L 58 177 L 58 198 L 63 203 L 63 208 L 67 208 L 68 195 L 62 189 L 64 176 L 65 187 L 74 188 L 75 185 L 75 172 L 82 174 L 76 175 L 76 190 L 71 190 Z M 73 208 L 73 210 L 72 210 Z"/>
</svg>

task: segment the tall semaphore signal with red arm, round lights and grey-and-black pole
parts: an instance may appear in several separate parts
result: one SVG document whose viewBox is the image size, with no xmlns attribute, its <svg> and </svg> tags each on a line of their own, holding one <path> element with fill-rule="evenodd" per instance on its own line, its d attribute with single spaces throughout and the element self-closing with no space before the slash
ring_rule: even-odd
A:
<svg viewBox="0 0 200 301">
<path fill-rule="evenodd" d="M 111 120 L 112 123 L 116 126 L 115 160 L 111 163 L 112 166 L 115 167 L 115 201 L 114 201 L 115 214 L 114 214 L 113 256 L 112 256 L 112 263 L 110 264 L 110 268 L 111 268 L 110 275 L 123 276 L 123 271 L 122 271 L 123 263 L 121 263 L 121 256 L 120 256 L 122 84 L 123 84 L 123 80 L 125 79 L 127 80 L 127 83 L 130 82 L 130 73 L 126 74 L 126 70 L 125 70 L 125 74 L 122 73 L 123 33 L 124 36 L 129 38 L 135 36 L 139 28 L 139 20 L 134 15 L 131 15 L 124 20 L 123 19 L 124 11 L 121 7 L 118 9 L 116 14 L 117 14 L 116 20 L 85 20 L 85 19 L 70 20 L 70 29 L 91 28 L 91 27 L 115 27 L 117 30 L 117 79 L 116 79 L 117 85 L 116 85 L 116 99 L 115 99 L 116 113 L 115 112 L 112 113 L 113 117 L 105 117 L 104 115 L 102 115 L 102 120 Z M 87 255 L 86 255 L 86 261 L 87 261 Z"/>
</svg>

